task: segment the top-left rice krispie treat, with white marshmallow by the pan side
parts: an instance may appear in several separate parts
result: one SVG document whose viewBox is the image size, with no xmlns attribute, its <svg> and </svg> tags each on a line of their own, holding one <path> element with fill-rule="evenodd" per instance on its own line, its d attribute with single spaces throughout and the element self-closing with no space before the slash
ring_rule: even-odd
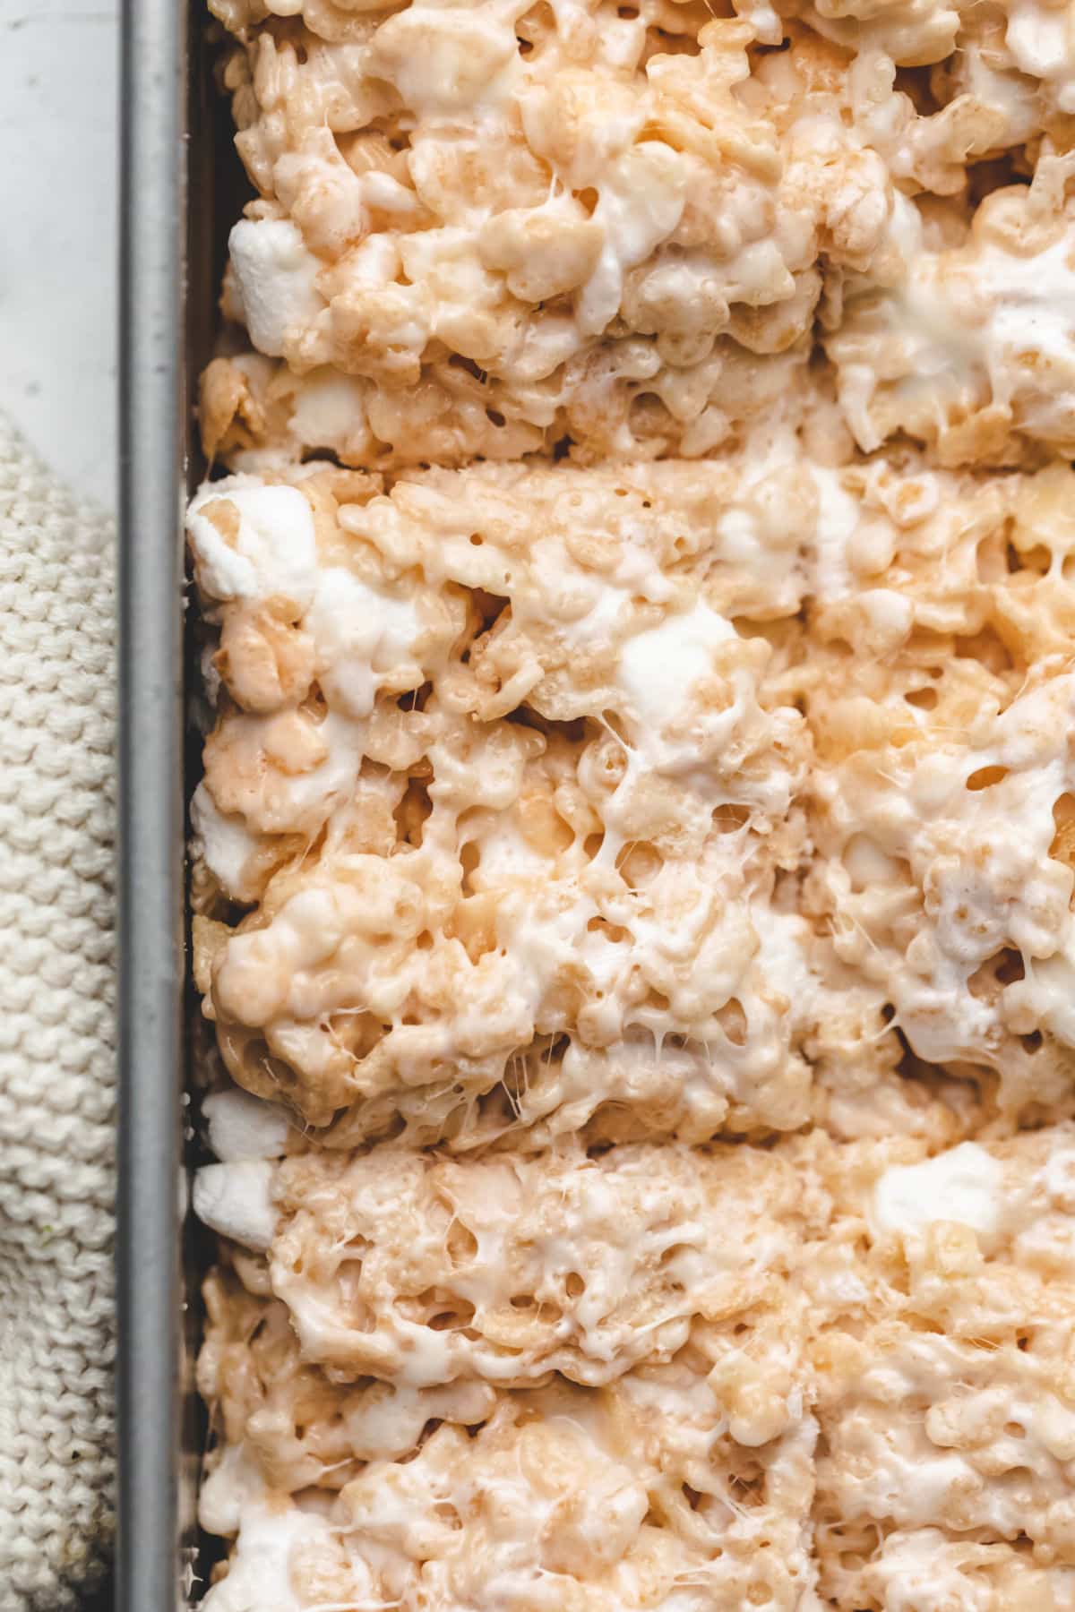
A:
<svg viewBox="0 0 1075 1612">
<path fill-rule="evenodd" d="M 725 442 L 801 379 L 822 263 L 904 261 L 909 203 L 849 129 L 846 53 L 793 32 L 751 77 L 749 23 L 667 0 L 248 31 L 227 82 L 259 200 L 224 310 L 284 364 L 218 359 L 210 451 Z"/>
</svg>

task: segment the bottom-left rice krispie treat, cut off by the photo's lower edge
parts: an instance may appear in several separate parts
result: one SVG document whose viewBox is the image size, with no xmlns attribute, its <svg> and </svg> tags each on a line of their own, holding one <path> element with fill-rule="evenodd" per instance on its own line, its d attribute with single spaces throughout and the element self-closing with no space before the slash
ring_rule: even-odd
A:
<svg viewBox="0 0 1075 1612">
<path fill-rule="evenodd" d="M 806 1606 L 790 1273 L 828 1201 L 795 1146 L 276 1167 L 268 1267 L 235 1264 L 298 1330 L 234 1277 L 206 1290 L 226 1443 L 201 1519 L 237 1533 L 214 1612 L 268 1594 L 272 1539 L 298 1606 Z M 198 1190 L 221 1227 L 227 1169 Z"/>
</svg>

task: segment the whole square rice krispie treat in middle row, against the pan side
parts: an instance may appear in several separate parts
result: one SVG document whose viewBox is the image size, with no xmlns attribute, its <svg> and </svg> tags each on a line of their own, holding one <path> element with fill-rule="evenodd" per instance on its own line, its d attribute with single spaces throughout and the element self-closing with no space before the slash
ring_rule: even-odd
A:
<svg viewBox="0 0 1075 1612">
<path fill-rule="evenodd" d="M 885 519 L 845 480 L 777 430 L 624 474 L 210 485 L 197 880 L 248 911 L 198 924 L 197 974 L 234 1077 L 337 1146 L 869 1125 L 883 983 L 796 911 L 795 617 Z M 885 1116 L 956 1124 L 898 1080 Z"/>
</svg>

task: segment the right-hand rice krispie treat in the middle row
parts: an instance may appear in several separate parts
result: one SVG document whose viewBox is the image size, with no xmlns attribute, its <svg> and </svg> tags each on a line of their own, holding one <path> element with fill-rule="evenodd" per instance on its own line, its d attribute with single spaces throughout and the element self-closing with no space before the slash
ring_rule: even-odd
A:
<svg viewBox="0 0 1075 1612">
<path fill-rule="evenodd" d="M 845 484 L 886 564 L 811 613 L 806 908 L 920 1059 L 1009 1124 L 1070 1114 L 1075 477 Z"/>
</svg>

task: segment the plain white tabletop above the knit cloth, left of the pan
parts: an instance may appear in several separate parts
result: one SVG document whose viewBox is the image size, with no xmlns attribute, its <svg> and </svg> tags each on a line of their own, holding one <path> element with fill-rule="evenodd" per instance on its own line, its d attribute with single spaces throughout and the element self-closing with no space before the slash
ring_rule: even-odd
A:
<svg viewBox="0 0 1075 1612">
<path fill-rule="evenodd" d="M 0 0 L 0 409 L 116 496 L 119 0 Z"/>
</svg>

